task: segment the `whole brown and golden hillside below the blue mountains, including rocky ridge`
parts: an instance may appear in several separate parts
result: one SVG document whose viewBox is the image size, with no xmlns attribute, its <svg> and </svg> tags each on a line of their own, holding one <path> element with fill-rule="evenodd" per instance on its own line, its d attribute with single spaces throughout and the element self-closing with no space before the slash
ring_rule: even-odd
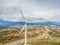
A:
<svg viewBox="0 0 60 45">
<path fill-rule="evenodd" d="M 0 29 L 0 44 L 9 45 L 12 43 L 17 45 L 20 42 L 24 43 L 24 31 L 20 33 L 21 28 L 9 27 Z M 46 35 L 45 26 L 28 26 L 28 44 L 29 45 L 60 45 L 60 27 L 59 26 L 47 26 L 48 35 Z M 17 29 L 18 28 L 18 29 Z M 59 31 L 57 31 L 59 30 Z M 17 42 L 17 43 L 16 43 Z"/>
</svg>

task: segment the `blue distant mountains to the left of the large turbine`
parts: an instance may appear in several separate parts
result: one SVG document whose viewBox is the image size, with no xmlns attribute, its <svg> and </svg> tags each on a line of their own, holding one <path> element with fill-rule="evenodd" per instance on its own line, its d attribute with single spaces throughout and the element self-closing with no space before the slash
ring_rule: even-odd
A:
<svg viewBox="0 0 60 45">
<path fill-rule="evenodd" d="M 24 22 L 9 22 L 9 21 L 0 21 L 0 28 L 9 27 L 13 25 L 24 25 Z"/>
</svg>

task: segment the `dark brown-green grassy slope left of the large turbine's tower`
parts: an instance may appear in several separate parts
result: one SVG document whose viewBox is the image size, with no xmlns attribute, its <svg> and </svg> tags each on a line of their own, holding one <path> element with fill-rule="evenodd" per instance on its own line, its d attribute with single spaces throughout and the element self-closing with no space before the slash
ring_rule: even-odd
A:
<svg viewBox="0 0 60 45">
<path fill-rule="evenodd" d="M 18 31 L 14 31 L 14 30 L 4 30 L 4 31 L 1 30 L 0 31 L 0 43 L 2 44 L 19 40 L 22 38 L 24 37 L 22 35 L 18 35 Z"/>
</svg>

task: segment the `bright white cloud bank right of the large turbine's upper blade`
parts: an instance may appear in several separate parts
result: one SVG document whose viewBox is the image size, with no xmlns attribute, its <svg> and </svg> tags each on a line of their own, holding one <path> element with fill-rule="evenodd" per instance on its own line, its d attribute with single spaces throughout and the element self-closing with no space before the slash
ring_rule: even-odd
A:
<svg viewBox="0 0 60 45">
<path fill-rule="evenodd" d="M 35 16 L 42 17 L 49 21 L 60 21 L 60 10 L 44 10 L 44 11 L 34 11 Z M 57 17 L 56 17 L 57 16 Z"/>
</svg>

